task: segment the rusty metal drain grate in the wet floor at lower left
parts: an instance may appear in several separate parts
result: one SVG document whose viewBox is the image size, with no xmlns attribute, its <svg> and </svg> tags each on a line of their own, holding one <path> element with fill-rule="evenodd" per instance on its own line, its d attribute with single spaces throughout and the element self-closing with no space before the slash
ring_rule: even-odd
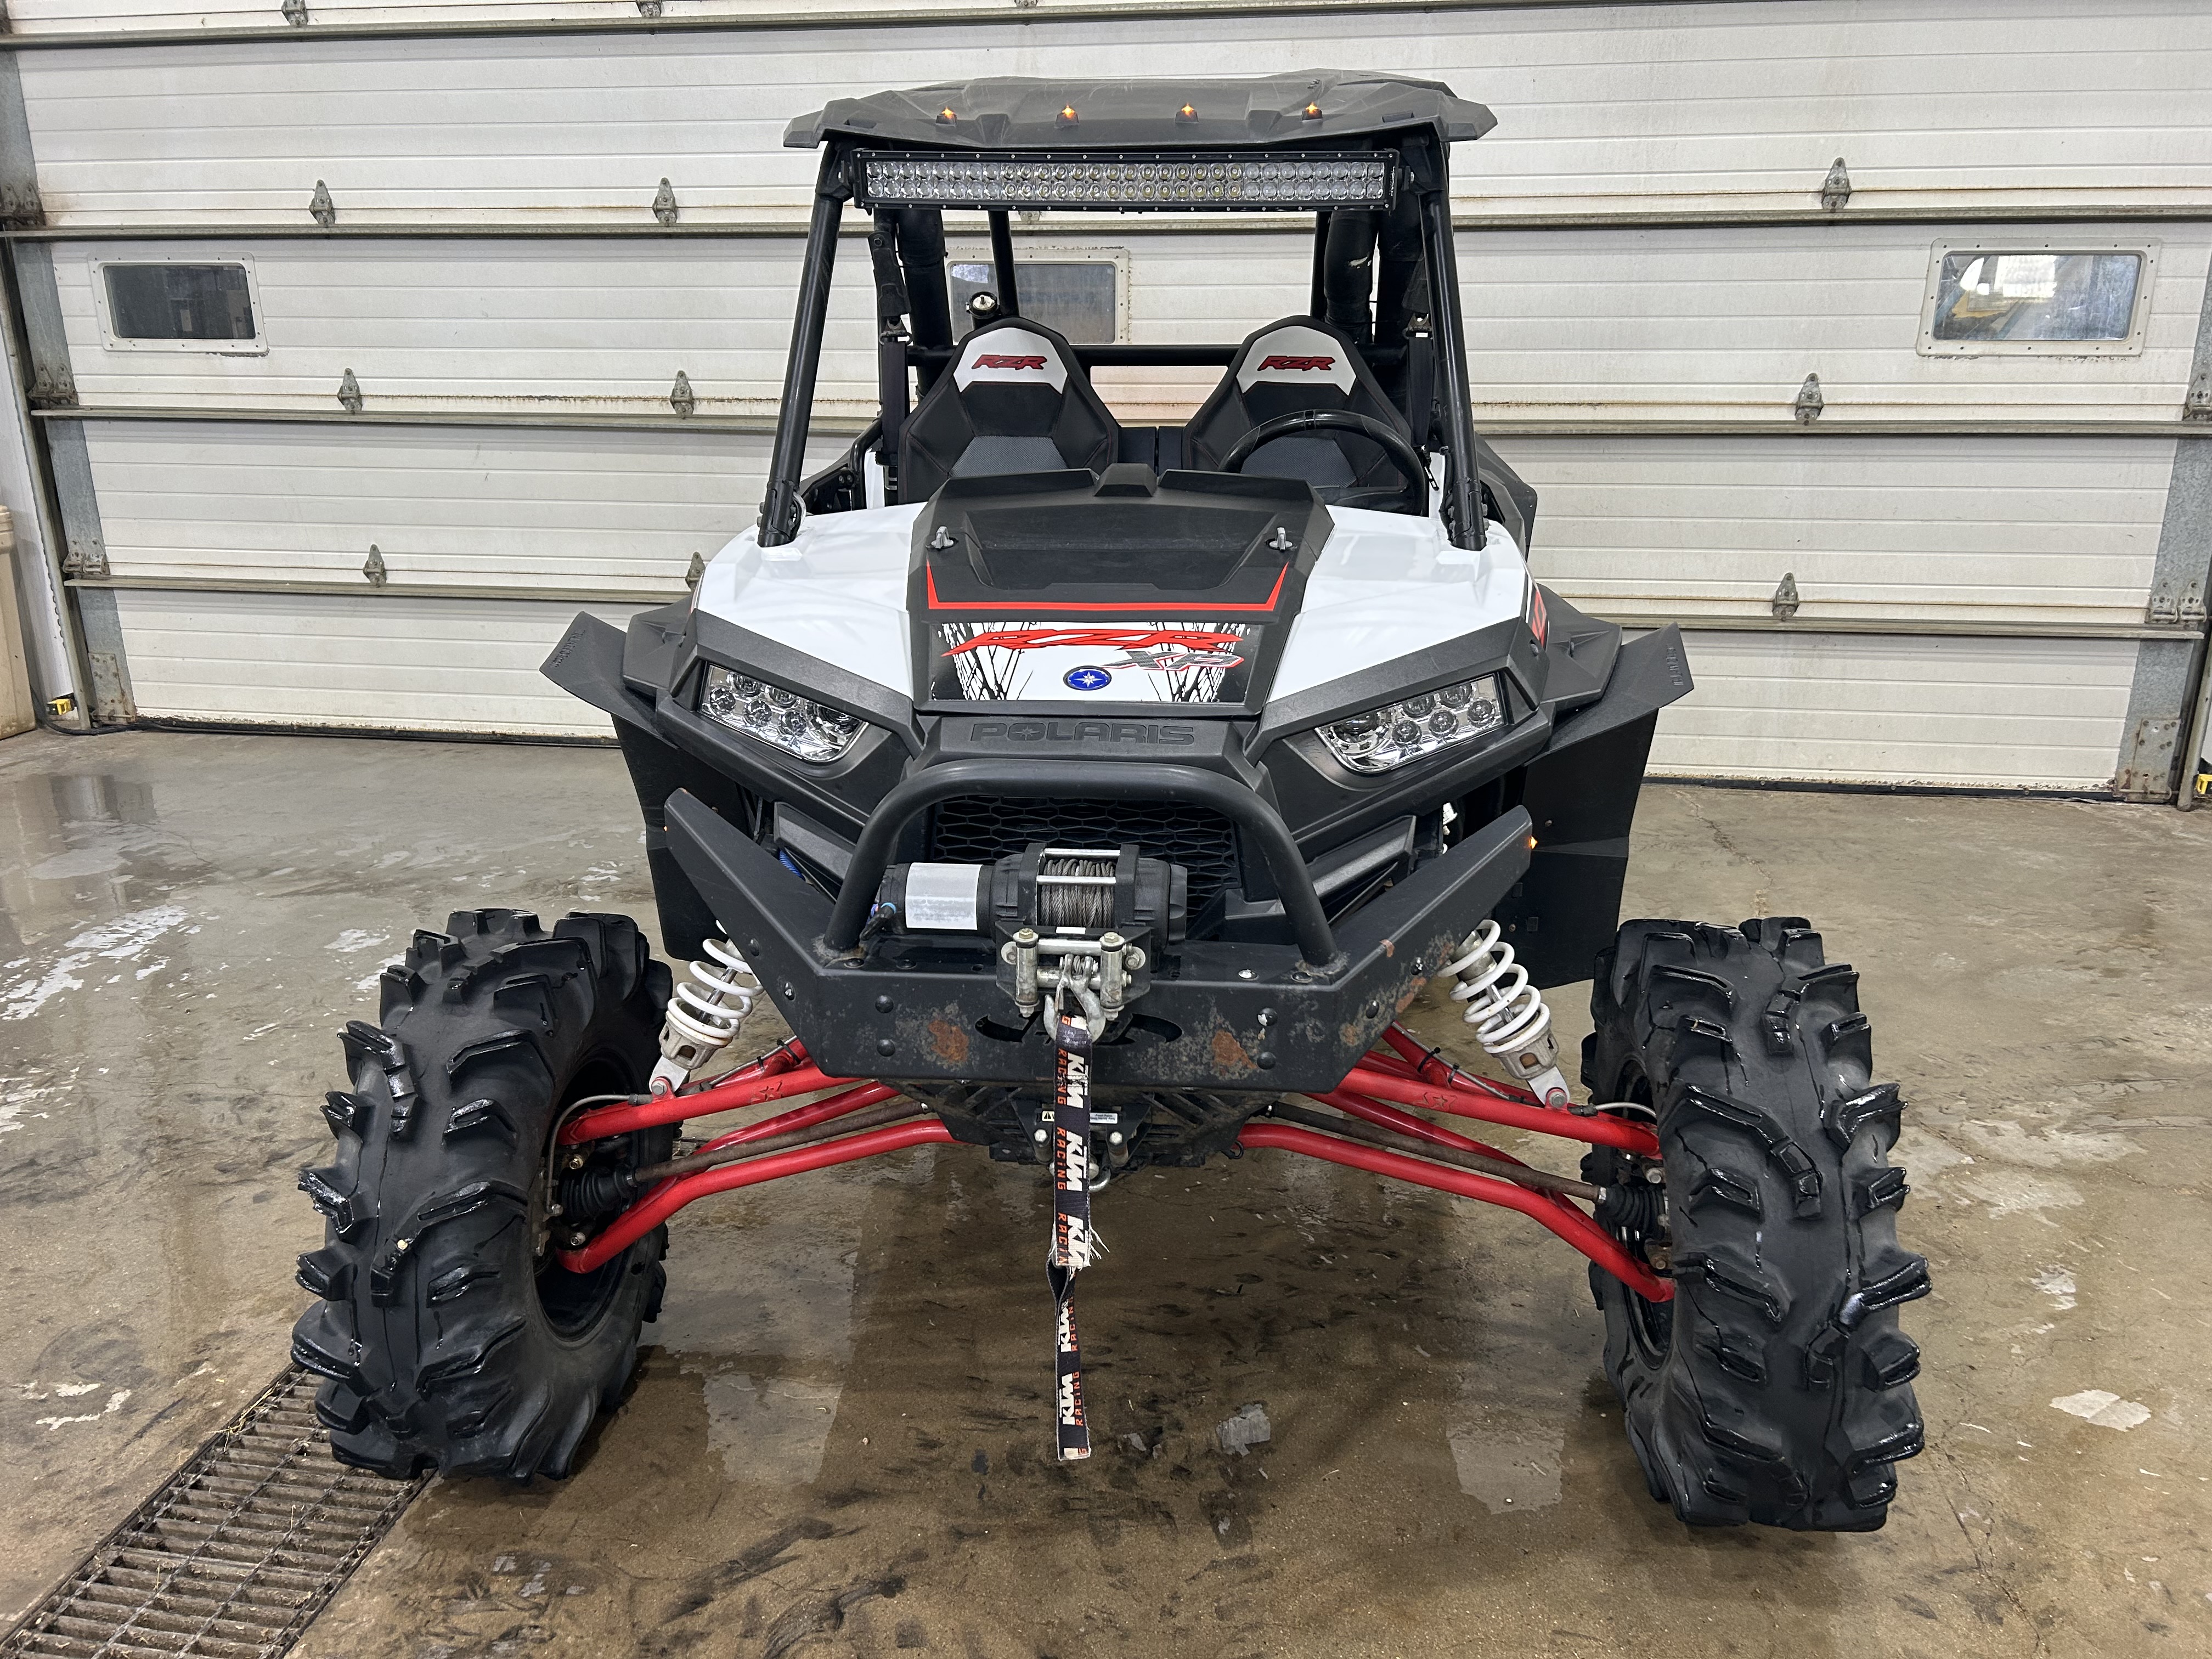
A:
<svg viewBox="0 0 2212 1659">
<path fill-rule="evenodd" d="M 0 1639 L 0 1659 L 274 1659 L 299 1641 L 422 1489 L 338 1464 L 314 1389 L 285 1367 Z"/>
</svg>

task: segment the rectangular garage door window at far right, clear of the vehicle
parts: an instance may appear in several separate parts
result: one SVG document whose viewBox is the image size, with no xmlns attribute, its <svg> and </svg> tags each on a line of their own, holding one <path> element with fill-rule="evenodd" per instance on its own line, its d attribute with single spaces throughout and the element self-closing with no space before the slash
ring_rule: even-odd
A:
<svg viewBox="0 0 2212 1659">
<path fill-rule="evenodd" d="M 1947 356 L 2143 349 L 2148 248 L 1958 248 L 1938 243 L 1920 349 Z"/>
</svg>

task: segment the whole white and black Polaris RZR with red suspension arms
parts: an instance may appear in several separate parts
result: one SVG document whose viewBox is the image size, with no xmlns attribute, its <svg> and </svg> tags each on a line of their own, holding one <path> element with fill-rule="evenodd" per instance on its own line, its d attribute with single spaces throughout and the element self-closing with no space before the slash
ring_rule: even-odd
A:
<svg viewBox="0 0 2212 1659">
<path fill-rule="evenodd" d="M 1491 124 L 1338 73 L 987 80 L 792 124 L 823 161 L 759 526 L 690 604 L 577 617 L 546 661 L 613 714 L 661 938 L 699 960 L 670 1002 L 628 918 L 469 911 L 347 1029 L 294 1347 L 338 1455 L 566 1473 L 677 1208 L 960 1141 L 1053 1183 L 1082 1458 L 1093 1192 L 1274 1148 L 1586 1254 L 1683 1520 L 1882 1524 L 1920 1449 L 1896 1307 L 1927 1292 L 1898 1091 L 1801 918 L 1615 927 L 1690 672 L 1677 630 L 1624 644 L 1535 584 L 1535 495 L 1473 431 L 1447 159 Z M 803 480 L 849 210 L 883 411 Z M 947 210 L 991 226 L 964 327 Z M 1024 314 L 1018 210 L 1312 215 L 1312 299 L 1232 345 L 1071 345 Z M 1183 425 L 1126 425 L 1099 365 L 1221 378 Z M 1584 1102 L 1542 987 L 1593 975 Z M 1429 982 L 1517 1082 L 1396 1024 Z M 754 995 L 796 1037 L 692 1082 Z M 1582 1177 L 1425 1113 L 1579 1141 Z"/>
</svg>

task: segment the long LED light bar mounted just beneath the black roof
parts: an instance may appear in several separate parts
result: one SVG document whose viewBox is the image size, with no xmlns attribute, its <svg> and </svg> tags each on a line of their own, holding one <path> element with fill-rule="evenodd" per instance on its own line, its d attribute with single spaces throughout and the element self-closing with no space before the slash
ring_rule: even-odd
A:
<svg viewBox="0 0 2212 1659">
<path fill-rule="evenodd" d="M 1084 208 L 1104 212 L 1312 212 L 1387 208 L 1387 150 L 1186 155 L 967 155 L 863 150 L 863 208 Z"/>
</svg>

